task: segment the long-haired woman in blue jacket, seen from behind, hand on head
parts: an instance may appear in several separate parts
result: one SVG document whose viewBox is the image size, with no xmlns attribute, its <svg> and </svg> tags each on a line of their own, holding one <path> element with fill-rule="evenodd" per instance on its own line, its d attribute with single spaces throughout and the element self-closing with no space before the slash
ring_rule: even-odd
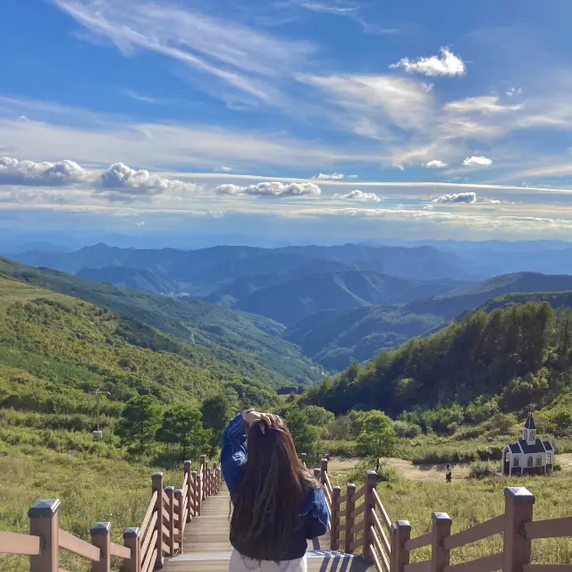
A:
<svg viewBox="0 0 572 572">
<path fill-rule="evenodd" d="M 307 572 L 307 539 L 329 519 L 324 491 L 296 454 L 279 416 L 253 409 L 223 432 L 221 468 L 231 493 L 231 572 Z"/>
</svg>

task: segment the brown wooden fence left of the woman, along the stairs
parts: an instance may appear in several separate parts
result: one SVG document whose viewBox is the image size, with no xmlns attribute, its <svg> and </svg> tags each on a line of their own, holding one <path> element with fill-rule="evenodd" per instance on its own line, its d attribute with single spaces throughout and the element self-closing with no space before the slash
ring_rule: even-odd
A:
<svg viewBox="0 0 572 572">
<path fill-rule="evenodd" d="M 0 554 L 29 556 L 30 572 L 66 572 L 59 567 L 60 551 L 88 559 L 92 572 L 111 572 L 111 558 L 122 559 L 123 572 L 149 572 L 164 557 L 182 548 L 185 526 L 200 516 L 202 502 L 220 491 L 222 475 L 216 463 L 200 458 L 198 471 L 185 461 L 180 489 L 164 486 L 163 473 L 151 477 L 151 500 L 139 527 L 125 528 L 123 545 L 111 542 L 111 523 L 91 528 L 91 543 L 60 528 L 59 499 L 36 501 L 29 509 L 29 534 L 0 532 Z"/>
</svg>

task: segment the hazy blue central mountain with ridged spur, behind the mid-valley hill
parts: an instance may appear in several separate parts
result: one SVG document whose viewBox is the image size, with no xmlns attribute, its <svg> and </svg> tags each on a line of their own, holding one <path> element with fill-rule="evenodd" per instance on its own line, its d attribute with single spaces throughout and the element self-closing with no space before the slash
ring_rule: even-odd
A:
<svg viewBox="0 0 572 572">
<path fill-rule="evenodd" d="M 293 325 L 320 310 L 400 304 L 448 290 L 450 286 L 439 282 L 413 282 L 381 273 L 346 271 L 267 286 L 240 299 L 234 307 Z"/>
</svg>

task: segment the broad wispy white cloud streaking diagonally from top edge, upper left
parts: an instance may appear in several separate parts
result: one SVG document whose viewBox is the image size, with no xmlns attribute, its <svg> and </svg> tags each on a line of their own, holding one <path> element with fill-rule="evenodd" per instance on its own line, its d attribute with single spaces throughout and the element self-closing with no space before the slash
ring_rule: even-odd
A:
<svg viewBox="0 0 572 572">
<path fill-rule="evenodd" d="M 125 55 L 136 49 L 156 52 L 267 104 L 272 104 L 274 89 L 266 79 L 304 69 L 314 52 L 309 42 L 275 38 L 238 21 L 172 2 L 53 2 L 91 32 L 111 40 Z M 210 92 L 224 98 L 222 89 Z"/>
</svg>

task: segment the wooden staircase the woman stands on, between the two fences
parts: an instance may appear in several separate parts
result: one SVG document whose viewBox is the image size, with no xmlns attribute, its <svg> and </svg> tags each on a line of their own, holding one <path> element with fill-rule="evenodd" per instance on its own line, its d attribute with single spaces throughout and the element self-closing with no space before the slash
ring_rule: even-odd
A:
<svg viewBox="0 0 572 572">
<path fill-rule="evenodd" d="M 231 559 L 230 496 L 223 485 L 214 497 L 203 501 L 200 517 L 194 517 L 183 535 L 181 554 L 165 559 L 164 572 L 228 572 Z M 329 532 L 308 541 L 308 572 L 365 572 L 360 557 L 322 550 L 330 546 Z"/>
</svg>

